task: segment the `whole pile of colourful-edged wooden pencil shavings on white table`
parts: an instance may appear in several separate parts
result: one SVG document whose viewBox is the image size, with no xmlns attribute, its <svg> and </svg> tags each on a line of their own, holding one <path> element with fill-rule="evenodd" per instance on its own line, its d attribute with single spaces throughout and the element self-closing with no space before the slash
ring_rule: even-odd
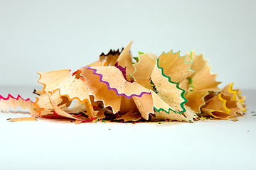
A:
<svg viewBox="0 0 256 170">
<path fill-rule="evenodd" d="M 185 121 L 242 116 L 245 96 L 228 84 L 218 88 L 203 55 L 173 51 L 159 57 L 127 47 L 100 55 L 100 60 L 75 72 L 69 69 L 38 72 L 43 90 L 36 102 L 21 96 L 0 96 L 0 111 L 28 108 L 31 118 L 70 118 L 76 123 L 95 121 Z M 19 119 L 16 119 L 17 121 Z"/>
</svg>

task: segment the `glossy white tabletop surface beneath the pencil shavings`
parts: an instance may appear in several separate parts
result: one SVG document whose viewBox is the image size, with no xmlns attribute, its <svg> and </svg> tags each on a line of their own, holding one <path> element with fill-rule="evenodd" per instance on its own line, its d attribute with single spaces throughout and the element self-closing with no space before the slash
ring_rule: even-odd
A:
<svg viewBox="0 0 256 170">
<path fill-rule="evenodd" d="M 31 97 L 33 88 L 0 87 Z M 238 122 L 82 123 L 0 113 L 0 169 L 256 169 L 256 91 Z"/>
</svg>

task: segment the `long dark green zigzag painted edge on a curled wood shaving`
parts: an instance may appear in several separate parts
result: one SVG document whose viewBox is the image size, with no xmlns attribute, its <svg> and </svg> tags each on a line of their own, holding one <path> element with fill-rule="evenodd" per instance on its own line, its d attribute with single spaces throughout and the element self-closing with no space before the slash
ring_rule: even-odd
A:
<svg viewBox="0 0 256 170">
<path fill-rule="evenodd" d="M 156 60 L 156 62 L 157 62 L 157 67 L 158 67 L 159 69 L 161 69 L 161 74 L 162 74 L 162 76 L 168 78 L 168 81 L 169 81 L 171 84 L 176 84 L 176 88 L 182 91 L 182 93 L 181 93 L 181 98 L 183 98 L 184 101 L 180 104 L 180 106 L 181 106 L 181 108 L 183 109 L 183 111 L 177 112 L 177 111 L 172 110 L 171 108 L 169 108 L 168 111 L 165 111 L 164 108 L 159 108 L 159 109 L 157 109 L 157 108 L 154 107 L 154 109 L 155 109 L 157 112 L 165 111 L 166 113 L 169 114 L 170 111 L 173 111 L 174 113 L 178 113 L 178 114 L 181 115 L 181 113 L 186 112 L 186 108 L 184 107 L 184 104 L 188 102 L 188 99 L 186 99 L 185 96 L 184 96 L 184 94 L 185 94 L 186 91 L 183 90 L 183 89 L 181 89 L 181 88 L 178 86 L 178 85 L 179 85 L 178 83 L 176 83 L 176 82 L 174 82 L 174 81 L 171 81 L 171 77 L 166 76 L 166 75 L 164 74 L 164 69 L 159 66 L 159 58 Z M 153 83 L 154 83 L 154 82 L 153 82 Z"/>
</svg>

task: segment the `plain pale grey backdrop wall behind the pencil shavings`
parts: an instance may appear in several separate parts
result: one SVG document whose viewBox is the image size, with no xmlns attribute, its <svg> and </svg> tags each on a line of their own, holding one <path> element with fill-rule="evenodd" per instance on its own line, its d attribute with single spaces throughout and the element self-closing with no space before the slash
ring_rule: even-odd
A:
<svg viewBox="0 0 256 170">
<path fill-rule="evenodd" d="M 138 51 L 204 52 L 223 85 L 255 89 L 255 1 L 0 1 L 0 86 L 78 69 L 133 40 Z"/>
</svg>

